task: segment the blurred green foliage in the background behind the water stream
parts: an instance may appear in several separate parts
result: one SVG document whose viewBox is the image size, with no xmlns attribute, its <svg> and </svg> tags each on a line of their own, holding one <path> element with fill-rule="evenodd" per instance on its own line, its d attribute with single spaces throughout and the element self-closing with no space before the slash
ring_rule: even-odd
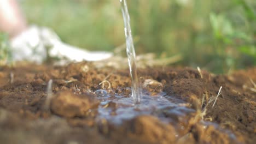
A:
<svg viewBox="0 0 256 144">
<path fill-rule="evenodd" d="M 178 64 L 228 72 L 256 64 L 254 0 L 127 0 L 137 53 L 183 55 Z M 28 22 L 89 50 L 125 43 L 119 0 L 25 0 Z"/>
</svg>

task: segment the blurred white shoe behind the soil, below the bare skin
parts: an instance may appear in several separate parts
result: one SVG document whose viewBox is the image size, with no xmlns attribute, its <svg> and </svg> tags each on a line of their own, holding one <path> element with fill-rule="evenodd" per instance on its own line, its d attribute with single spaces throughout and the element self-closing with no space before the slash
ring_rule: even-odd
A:
<svg viewBox="0 0 256 144">
<path fill-rule="evenodd" d="M 90 52 L 65 43 L 49 28 L 31 26 L 10 40 L 14 61 L 44 62 L 49 49 L 50 57 L 67 58 L 70 61 L 100 61 L 113 56 L 110 52 Z"/>
</svg>

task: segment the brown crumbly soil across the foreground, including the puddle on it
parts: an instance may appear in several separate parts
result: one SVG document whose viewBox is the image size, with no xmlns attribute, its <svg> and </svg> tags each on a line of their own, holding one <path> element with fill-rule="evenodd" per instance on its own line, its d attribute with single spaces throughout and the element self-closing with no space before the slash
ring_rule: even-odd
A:
<svg viewBox="0 0 256 144">
<path fill-rule="evenodd" d="M 256 141 L 256 68 L 214 75 L 152 67 L 138 74 L 142 101 L 134 105 L 127 69 L 88 62 L 1 67 L 0 142 Z"/>
</svg>

